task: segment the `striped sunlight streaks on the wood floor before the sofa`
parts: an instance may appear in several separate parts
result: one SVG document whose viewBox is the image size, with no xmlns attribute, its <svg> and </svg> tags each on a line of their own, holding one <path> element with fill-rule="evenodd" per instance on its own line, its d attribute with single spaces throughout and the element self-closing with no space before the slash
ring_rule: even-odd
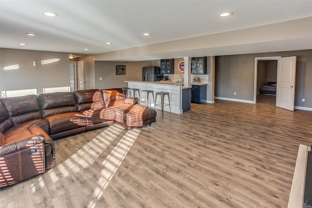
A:
<svg viewBox="0 0 312 208">
<path fill-rule="evenodd" d="M 94 139 L 82 146 L 75 154 L 69 156 L 58 166 L 47 170 L 47 174 L 40 175 L 37 178 L 37 183 L 31 184 L 31 192 L 35 193 L 40 191 L 45 188 L 47 185 L 46 183 L 48 183 L 49 186 L 61 188 L 61 181 L 66 177 L 71 177 L 74 183 L 73 186 L 77 186 L 77 188 L 82 181 L 88 181 L 88 183 L 93 184 L 94 189 L 90 189 L 90 195 L 88 196 L 89 202 L 86 207 L 97 207 L 97 203 L 102 198 L 105 188 L 113 179 L 118 167 L 135 143 L 140 132 L 141 129 L 138 128 L 126 130 L 119 125 L 108 126 Z M 105 149 L 112 145 L 112 142 L 116 139 L 120 141 L 118 141 L 118 143 L 116 141 L 117 145 L 114 146 L 113 150 L 109 154 L 107 151 L 105 152 Z M 65 143 L 67 142 L 65 141 Z M 112 148 L 112 146 L 110 147 Z M 105 155 L 107 156 L 105 157 Z M 99 157 L 103 157 L 102 163 L 97 161 Z M 95 162 L 98 162 L 98 164 L 94 164 L 94 166 L 91 167 Z M 100 177 L 90 180 L 90 175 L 88 176 L 88 174 L 86 174 L 86 172 L 89 173 L 90 170 L 98 171 L 97 175 L 100 175 Z M 60 192 L 62 191 L 61 188 Z"/>
</svg>

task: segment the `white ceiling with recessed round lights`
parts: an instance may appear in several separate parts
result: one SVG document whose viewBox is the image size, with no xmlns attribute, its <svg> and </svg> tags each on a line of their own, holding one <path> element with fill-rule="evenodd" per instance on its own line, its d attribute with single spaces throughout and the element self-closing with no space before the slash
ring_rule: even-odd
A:
<svg viewBox="0 0 312 208">
<path fill-rule="evenodd" d="M 47 17 L 41 14 L 43 11 L 59 16 Z M 233 15 L 217 16 L 224 11 Z M 0 0 L 0 47 L 84 56 L 306 17 L 312 17 L 312 0 Z M 143 36 L 144 32 L 152 35 Z M 280 43 L 270 42 L 276 51 L 283 50 Z M 302 40 L 298 44 L 303 44 Z M 252 52 L 262 52 L 262 48 L 255 44 Z M 229 53 L 225 47 L 215 50 L 218 55 Z M 198 51 L 190 51 L 192 54 Z M 179 53 L 159 53 L 159 57 L 164 55 L 176 57 Z M 142 59 L 144 56 L 128 60 Z"/>
</svg>

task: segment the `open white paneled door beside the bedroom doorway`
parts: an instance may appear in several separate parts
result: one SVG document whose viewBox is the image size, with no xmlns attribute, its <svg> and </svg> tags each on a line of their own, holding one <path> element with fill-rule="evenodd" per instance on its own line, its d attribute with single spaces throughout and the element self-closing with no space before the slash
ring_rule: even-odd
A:
<svg viewBox="0 0 312 208">
<path fill-rule="evenodd" d="M 277 61 L 276 106 L 294 109 L 296 56 L 279 58 Z"/>
</svg>

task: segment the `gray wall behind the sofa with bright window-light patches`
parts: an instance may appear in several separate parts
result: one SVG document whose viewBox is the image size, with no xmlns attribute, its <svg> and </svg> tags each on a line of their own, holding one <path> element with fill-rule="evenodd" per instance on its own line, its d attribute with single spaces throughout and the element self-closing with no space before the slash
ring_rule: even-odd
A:
<svg viewBox="0 0 312 208">
<path fill-rule="evenodd" d="M 59 61 L 42 64 L 49 59 Z M 19 68 L 4 70 L 11 65 Z M 0 48 L 0 69 L 1 91 L 69 86 L 68 53 Z"/>
</svg>

